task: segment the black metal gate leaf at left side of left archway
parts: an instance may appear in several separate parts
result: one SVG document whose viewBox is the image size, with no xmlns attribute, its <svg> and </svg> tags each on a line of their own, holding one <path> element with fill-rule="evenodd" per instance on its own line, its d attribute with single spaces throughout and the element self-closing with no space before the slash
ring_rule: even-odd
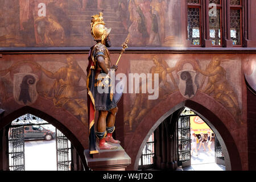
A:
<svg viewBox="0 0 256 182">
<path fill-rule="evenodd" d="M 9 129 L 9 169 L 25 171 L 23 126 Z"/>
</svg>

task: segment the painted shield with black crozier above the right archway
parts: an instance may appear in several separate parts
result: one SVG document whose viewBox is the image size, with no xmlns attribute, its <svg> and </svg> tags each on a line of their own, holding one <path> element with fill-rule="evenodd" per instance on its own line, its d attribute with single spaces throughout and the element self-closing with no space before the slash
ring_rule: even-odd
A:
<svg viewBox="0 0 256 182">
<path fill-rule="evenodd" d="M 192 98 L 197 92 L 195 84 L 196 72 L 193 70 L 183 70 L 177 72 L 179 75 L 179 90 L 185 98 Z"/>
</svg>

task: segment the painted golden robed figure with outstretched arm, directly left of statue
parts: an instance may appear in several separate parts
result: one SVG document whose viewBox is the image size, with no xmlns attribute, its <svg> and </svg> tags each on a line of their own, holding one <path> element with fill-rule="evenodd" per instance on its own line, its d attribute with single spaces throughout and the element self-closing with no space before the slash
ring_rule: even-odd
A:
<svg viewBox="0 0 256 182">
<path fill-rule="evenodd" d="M 67 109 L 76 117 L 79 117 L 82 123 L 87 125 L 87 103 L 79 97 L 79 92 L 86 89 L 86 86 L 80 86 L 81 78 L 86 80 L 86 75 L 76 60 L 69 56 L 67 58 L 67 67 L 60 68 L 55 73 L 44 69 L 39 64 L 38 69 L 47 77 L 55 79 L 47 96 L 53 99 L 53 104 L 56 107 Z"/>
</svg>

